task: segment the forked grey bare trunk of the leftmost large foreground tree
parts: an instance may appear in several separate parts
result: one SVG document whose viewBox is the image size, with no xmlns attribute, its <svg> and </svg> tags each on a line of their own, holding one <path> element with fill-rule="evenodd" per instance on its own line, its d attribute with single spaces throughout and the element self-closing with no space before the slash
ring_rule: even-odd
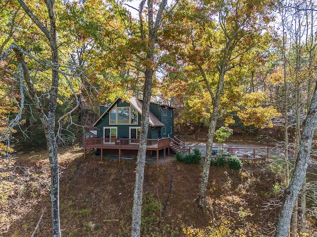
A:
<svg viewBox="0 0 317 237">
<path fill-rule="evenodd" d="M 44 0 L 48 14 L 50 19 L 50 29 L 47 26 L 44 26 L 41 21 L 34 15 L 34 13 L 29 9 L 29 7 L 25 4 L 24 0 L 18 0 L 21 7 L 24 9 L 26 14 L 32 19 L 34 24 L 38 26 L 38 28 L 44 33 L 47 40 L 49 41 L 49 45 L 51 47 L 52 54 L 52 85 L 50 89 L 50 102 L 49 102 L 49 111 L 48 114 L 45 115 L 43 110 L 43 106 L 40 103 L 37 95 L 36 89 L 34 88 L 33 82 L 31 78 L 27 75 L 27 67 L 25 62 L 23 62 L 25 68 L 24 76 L 26 79 L 26 84 L 28 86 L 28 90 L 32 96 L 33 102 L 38 109 L 38 114 L 41 118 L 42 125 L 44 127 L 44 133 L 46 137 L 46 143 L 49 150 L 49 159 L 51 166 L 51 204 L 52 204 L 52 231 L 53 237 L 60 237 L 60 219 L 59 219 L 59 176 L 58 176 L 58 159 L 57 159 L 57 143 L 55 139 L 55 110 L 56 110 L 56 102 L 57 102 L 57 91 L 58 91 L 58 83 L 59 83 L 59 75 L 58 75 L 58 48 L 56 43 L 56 25 L 55 25 L 55 16 L 54 16 L 54 0 Z M 15 50 L 17 58 L 23 58 L 23 55 L 19 52 L 19 50 Z M 21 55 L 20 55 L 21 54 Z"/>
</svg>

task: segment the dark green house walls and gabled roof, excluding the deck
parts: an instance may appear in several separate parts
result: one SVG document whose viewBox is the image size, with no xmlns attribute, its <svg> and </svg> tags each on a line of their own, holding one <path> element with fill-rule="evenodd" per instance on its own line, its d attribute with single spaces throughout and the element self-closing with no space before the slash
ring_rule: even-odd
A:
<svg viewBox="0 0 317 237">
<path fill-rule="evenodd" d="M 151 102 L 148 139 L 174 136 L 174 108 Z M 101 107 L 101 116 L 95 122 L 99 138 L 138 139 L 141 130 L 142 100 L 132 97 L 130 101 L 117 98 L 109 107 Z"/>
</svg>

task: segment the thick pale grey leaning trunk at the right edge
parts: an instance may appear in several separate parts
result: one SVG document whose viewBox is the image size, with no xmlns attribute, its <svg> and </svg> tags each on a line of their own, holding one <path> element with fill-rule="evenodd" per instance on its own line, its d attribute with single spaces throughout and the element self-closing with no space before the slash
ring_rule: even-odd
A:
<svg viewBox="0 0 317 237">
<path fill-rule="evenodd" d="M 298 157 L 296 159 L 294 173 L 292 175 L 290 184 L 285 190 L 285 197 L 282 203 L 278 222 L 276 226 L 275 237 L 287 237 L 288 229 L 291 222 L 292 210 L 295 201 L 302 188 L 306 170 L 309 163 L 312 140 L 317 126 L 317 85 L 315 85 L 314 94 L 310 104 L 310 108 L 306 119 L 303 123 L 303 133 L 299 145 Z"/>
</svg>

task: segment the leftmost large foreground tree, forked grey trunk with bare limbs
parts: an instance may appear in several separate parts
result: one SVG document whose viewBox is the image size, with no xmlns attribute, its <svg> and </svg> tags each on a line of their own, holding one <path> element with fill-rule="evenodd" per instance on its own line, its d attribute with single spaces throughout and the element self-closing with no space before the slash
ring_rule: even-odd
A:
<svg viewBox="0 0 317 237">
<path fill-rule="evenodd" d="M 61 236 L 60 232 L 60 220 L 59 220 L 59 177 L 58 177 L 58 163 L 57 163 L 57 143 L 55 139 L 55 109 L 57 104 L 57 92 L 59 83 L 59 59 L 58 59 L 58 47 L 57 47 L 57 33 L 56 33 L 56 19 L 54 14 L 54 1 L 45 0 L 44 5 L 46 6 L 48 22 L 46 24 L 39 19 L 30 7 L 24 2 L 24 0 L 18 0 L 20 6 L 24 12 L 31 18 L 34 25 L 44 34 L 45 41 L 48 43 L 51 51 L 51 88 L 49 90 L 49 108 L 45 112 L 44 106 L 38 96 L 38 90 L 34 85 L 34 81 L 31 78 L 29 68 L 27 66 L 27 57 L 32 57 L 27 52 L 23 51 L 16 44 L 11 46 L 1 55 L 0 61 L 3 60 L 11 51 L 14 52 L 15 59 L 18 65 L 18 72 L 21 75 L 21 96 L 25 90 L 32 99 L 34 105 L 37 108 L 38 115 L 41 119 L 47 146 L 49 150 L 49 159 L 51 165 L 51 203 L 52 203 L 52 228 L 53 236 Z M 43 5 L 42 5 L 43 6 Z M 43 20 L 43 19 L 42 19 Z M 23 98 L 23 97 L 22 97 Z M 24 98 L 23 98 L 24 99 Z"/>
</svg>

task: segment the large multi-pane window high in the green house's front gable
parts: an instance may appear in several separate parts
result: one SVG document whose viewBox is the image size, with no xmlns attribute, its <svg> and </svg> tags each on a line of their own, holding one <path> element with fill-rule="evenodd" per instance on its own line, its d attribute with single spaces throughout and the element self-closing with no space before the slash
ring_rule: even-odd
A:
<svg viewBox="0 0 317 237">
<path fill-rule="evenodd" d="M 109 124 L 138 124 L 138 111 L 132 106 L 114 107 L 109 115 Z"/>
</svg>

